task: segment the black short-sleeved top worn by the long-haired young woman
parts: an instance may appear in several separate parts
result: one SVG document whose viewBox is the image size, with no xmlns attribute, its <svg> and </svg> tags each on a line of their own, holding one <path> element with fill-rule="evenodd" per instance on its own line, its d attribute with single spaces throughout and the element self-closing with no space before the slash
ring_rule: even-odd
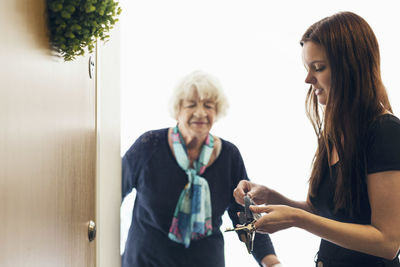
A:
<svg viewBox="0 0 400 267">
<path fill-rule="evenodd" d="M 381 115 L 371 124 L 366 134 L 367 173 L 400 170 L 400 120 L 390 114 Z M 347 223 L 371 224 L 371 208 L 366 190 L 362 196 L 365 201 L 362 203 L 361 212 L 353 216 L 346 215 L 345 211 L 334 212 L 333 194 L 337 165 L 331 166 L 332 176 L 326 166 L 317 196 L 310 199 L 311 203 L 318 215 L 323 217 Z M 324 266 L 400 266 L 398 258 L 393 261 L 384 260 L 337 246 L 324 239 L 321 239 L 318 257 L 325 263 Z"/>
</svg>

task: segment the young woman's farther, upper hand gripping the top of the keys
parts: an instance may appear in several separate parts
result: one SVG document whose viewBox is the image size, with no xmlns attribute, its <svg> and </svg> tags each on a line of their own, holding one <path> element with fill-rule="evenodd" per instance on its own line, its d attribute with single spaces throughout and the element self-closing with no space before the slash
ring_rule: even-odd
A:
<svg viewBox="0 0 400 267">
<path fill-rule="evenodd" d="M 242 180 L 233 191 L 233 196 L 237 203 L 244 205 L 243 198 L 247 194 L 254 203 L 260 205 L 267 203 L 270 191 L 271 190 L 266 186 Z"/>
</svg>

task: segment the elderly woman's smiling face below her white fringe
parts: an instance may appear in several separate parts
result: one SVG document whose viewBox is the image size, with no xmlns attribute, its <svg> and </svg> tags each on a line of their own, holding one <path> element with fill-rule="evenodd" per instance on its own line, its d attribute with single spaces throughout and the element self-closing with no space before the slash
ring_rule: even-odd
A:
<svg viewBox="0 0 400 267">
<path fill-rule="evenodd" d="M 179 129 L 191 136 L 207 135 L 217 115 L 215 101 L 200 99 L 198 93 L 183 99 L 178 113 Z"/>
</svg>

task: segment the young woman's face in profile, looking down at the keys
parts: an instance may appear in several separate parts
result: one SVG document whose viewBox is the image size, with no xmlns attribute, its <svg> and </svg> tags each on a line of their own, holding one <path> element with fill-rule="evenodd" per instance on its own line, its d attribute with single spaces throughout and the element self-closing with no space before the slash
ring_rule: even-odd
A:
<svg viewBox="0 0 400 267">
<path fill-rule="evenodd" d="M 307 69 L 305 82 L 312 86 L 318 102 L 326 105 L 331 87 L 331 69 L 325 49 L 312 41 L 303 44 L 303 62 Z"/>
</svg>

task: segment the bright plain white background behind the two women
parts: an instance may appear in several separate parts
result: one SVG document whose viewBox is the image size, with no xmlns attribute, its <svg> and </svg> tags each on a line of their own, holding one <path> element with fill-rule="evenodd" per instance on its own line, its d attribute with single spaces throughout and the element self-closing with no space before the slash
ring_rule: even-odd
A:
<svg viewBox="0 0 400 267">
<path fill-rule="evenodd" d="M 175 121 L 168 101 L 193 70 L 215 75 L 230 109 L 212 133 L 236 144 L 249 177 L 304 200 L 316 137 L 306 118 L 308 86 L 299 40 L 312 23 L 352 11 L 373 28 L 382 78 L 400 112 L 398 1 L 121 0 L 121 151 Z M 134 193 L 121 208 L 121 248 Z M 224 216 L 222 230 L 230 227 Z M 234 233 L 225 233 L 226 266 L 257 266 Z M 319 238 L 300 229 L 271 235 L 284 266 L 313 266 Z M 206 255 L 205 255 L 206 256 Z"/>
</svg>

